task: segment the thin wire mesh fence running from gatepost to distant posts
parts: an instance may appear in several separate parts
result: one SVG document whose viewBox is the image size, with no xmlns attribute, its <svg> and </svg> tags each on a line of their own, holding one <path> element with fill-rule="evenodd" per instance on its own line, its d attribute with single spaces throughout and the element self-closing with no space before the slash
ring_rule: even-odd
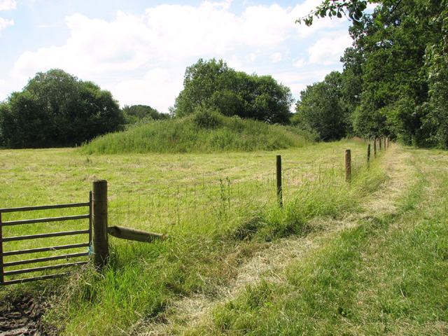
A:
<svg viewBox="0 0 448 336">
<path fill-rule="evenodd" d="M 353 151 L 351 174 L 356 179 L 367 167 L 367 151 Z M 311 193 L 323 188 L 341 188 L 344 181 L 344 156 L 332 153 L 321 160 L 283 158 L 283 200 L 292 200 L 298 191 Z M 277 203 L 276 169 L 235 176 L 197 174 L 138 185 L 137 190 L 121 193 L 109 202 L 109 223 L 166 235 L 186 232 L 208 235 L 232 227 L 244 214 L 274 207 Z M 121 242 L 119 243 L 121 244 Z"/>
</svg>

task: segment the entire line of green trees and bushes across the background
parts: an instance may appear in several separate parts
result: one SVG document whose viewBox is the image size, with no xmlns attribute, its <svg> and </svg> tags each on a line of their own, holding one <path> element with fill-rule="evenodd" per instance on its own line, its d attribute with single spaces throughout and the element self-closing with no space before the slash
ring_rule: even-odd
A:
<svg viewBox="0 0 448 336">
<path fill-rule="evenodd" d="M 292 124 L 330 141 L 390 137 L 405 144 L 448 148 L 447 0 L 384 0 L 365 14 L 367 0 L 325 0 L 297 20 L 347 15 L 353 44 L 342 73 L 300 92 L 272 76 L 248 75 L 222 59 L 188 66 L 170 114 L 146 105 L 120 109 L 111 92 L 60 69 L 37 73 L 22 92 L 0 104 L 0 146 L 73 146 L 126 125 L 209 112 Z"/>
</svg>

